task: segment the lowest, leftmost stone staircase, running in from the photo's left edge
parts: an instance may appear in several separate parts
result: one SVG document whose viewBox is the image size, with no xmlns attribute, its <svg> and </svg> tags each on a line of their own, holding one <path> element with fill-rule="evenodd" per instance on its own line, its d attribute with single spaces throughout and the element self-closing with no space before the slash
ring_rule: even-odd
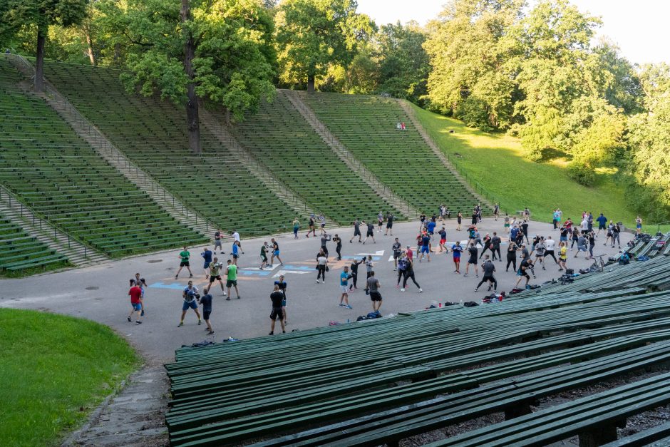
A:
<svg viewBox="0 0 670 447">
<path fill-rule="evenodd" d="M 109 258 L 102 253 L 86 247 L 79 240 L 58 230 L 48 221 L 36 216 L 30 207 L 20 202 L 14 194 L 4 186 L 0 186 L 0 214 L 11 220 L 15 225 L 35 237 L 56 252 L 66 255 L 68 260 L 77 267 L 97 264 Z"/>
</svg>

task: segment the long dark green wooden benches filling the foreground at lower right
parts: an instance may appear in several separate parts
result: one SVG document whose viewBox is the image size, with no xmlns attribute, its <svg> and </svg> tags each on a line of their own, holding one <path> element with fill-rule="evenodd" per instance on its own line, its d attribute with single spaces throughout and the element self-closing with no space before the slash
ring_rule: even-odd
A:
<svg viewBox="0 0 670 447">
<path fill-rule="evenodd" d="M 670 268 L 666 257 L 652 262 Z M 635 264 L 618 274 L 629 281 L 613 291 L 593 282 L 582 292 L 575 283 L 498 305 L 180 349 L 166 366 L 170 442 L 375 446 L 498 411 L 510 419 L 501 433 L 516 433 L 513 421 L 530 413 L 532 401 L 670 359 L 670 292 L 634 287 L 641 276 Z M 268 386 L 275 378 L 280 384 Z M 670 402 L 669 379 L 656 379 L 664 385 L 630 384 L 631 399 L 604 395 L 603 402 L 624 416 Z M 585 399 L 565 409 L 587 409 L 579 419 L 584 430 L 612 422 L 599 411 L 606 404 Z M 528 416 L 540 421 L 533 436 L 555 441 L 575 433 L 554 415 Z M 472 445 L 498 437 L 493 429 L 473 432 Z"/>
</svg>

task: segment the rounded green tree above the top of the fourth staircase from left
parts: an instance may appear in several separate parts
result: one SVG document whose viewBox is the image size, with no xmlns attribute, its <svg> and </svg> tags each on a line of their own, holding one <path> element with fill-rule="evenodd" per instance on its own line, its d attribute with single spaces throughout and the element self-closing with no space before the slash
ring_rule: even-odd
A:
<svg viewBox="0 0 670 447">
<path fill-rule="evenodd" d="M 374 31 L 365 14 L 356 13 L 354 0 L 285 0 L 277 11 L 277 53 L 282 83 L 314 91 L 316 76 L 331 65 L 345 71 L 359 43 Z"/>
</svg>

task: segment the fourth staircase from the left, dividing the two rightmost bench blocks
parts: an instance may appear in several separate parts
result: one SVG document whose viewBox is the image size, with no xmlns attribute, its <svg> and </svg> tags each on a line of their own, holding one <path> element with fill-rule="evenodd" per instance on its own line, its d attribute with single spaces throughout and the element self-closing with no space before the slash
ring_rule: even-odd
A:
<svg viewBox="0 0 670 447">
<path fill-rule="evenodd" d="M 321 120 L 319 120 L 314 111 L 312 111 L 300 97 L 301 94 L 306 93 L 293 90 L 278 90 L 277 94 L 284 95 L 288 98 L 294 108 L 296 108 L 306 122 L 309 123 L 311 128 L 314 129 L 319 137 L 321 137 L 321 140 L 324 140 L 324 143 L 333 150 L 338 158 L 342 160 L 351 171 L 359 175 L 359 177 L 363 179 L 364 182 L 377 193 L 377 195 L 391 203 L 396 210 L 400 211 L 403 216 L 408 219 L 416 219 L 421 215 L 421 212 L 410 205 L 410 203 L 403 199 L 403 197 L 396 195 L 390 188 L 381 183 L 381 180 L 368 170 L 363 163 L 357 160 L 356 157 L 354 157 L 354 154 L 352 154 L 349 149 L 347 149 L 346 146 L 341 143 L 341 141 L 331 133 L 328 128 L 326 128 L 324 123 L 321 123 Z"/>
</svg>

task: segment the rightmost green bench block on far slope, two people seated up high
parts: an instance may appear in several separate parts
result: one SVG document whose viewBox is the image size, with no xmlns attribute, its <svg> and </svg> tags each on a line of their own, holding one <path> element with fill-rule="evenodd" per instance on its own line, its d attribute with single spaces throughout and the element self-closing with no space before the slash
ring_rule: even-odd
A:
<svg viewBox="0 0 670 447">
<path fill-rule="evenodd" d="M 314 93 L 303 96 L 316 116 L 384 184 L 426 213 L 440 204 L 464 215 L 477 200 L 444 168 L 391 98 Z M 399 122 L 406 130 L 396 129 Z"/>
</svg>

